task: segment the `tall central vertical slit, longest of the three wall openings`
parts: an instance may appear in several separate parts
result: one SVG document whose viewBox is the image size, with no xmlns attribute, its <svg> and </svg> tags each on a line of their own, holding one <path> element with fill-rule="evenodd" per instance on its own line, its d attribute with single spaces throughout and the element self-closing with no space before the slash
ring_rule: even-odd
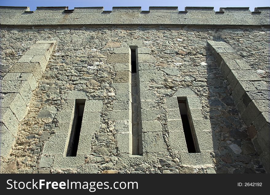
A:
<svg viewBox="0 0 270 195">
<path fill-rule="evenodd" d="M 137 46 L 130 46 L 131 51 L 131 109 L 132 109 L 132 154 L 142 154 L 142 140 L 141 140 L 141 107 L 139 96 L 138 83 L 138 60 L 137 60 Z"/>
</svg>

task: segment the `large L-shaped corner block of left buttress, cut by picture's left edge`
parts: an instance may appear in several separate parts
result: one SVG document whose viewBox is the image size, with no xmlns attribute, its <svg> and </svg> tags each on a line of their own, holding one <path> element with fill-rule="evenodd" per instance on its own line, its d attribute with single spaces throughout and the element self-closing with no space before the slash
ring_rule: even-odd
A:
<svg viewBox="0 0 270 195">
<path fill-rule="evenodd" d="M 20 93 L 26 105 L 29 105 L 32 91 L 29 83 L 25 80 L 1 80 L 0 88 L 2 93 Z"/>
</svg>

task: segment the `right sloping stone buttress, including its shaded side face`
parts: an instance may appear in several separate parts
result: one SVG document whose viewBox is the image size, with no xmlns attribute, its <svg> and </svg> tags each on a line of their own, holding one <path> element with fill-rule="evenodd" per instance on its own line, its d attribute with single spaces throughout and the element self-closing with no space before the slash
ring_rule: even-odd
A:
<svg viewBox="0 0 270 195">
<path fill-rule="evenodd" d="M 208 43 L 223 77 L 230 84 L 241 118 L 257 131 L 253 144 L 269 173 L 269 86 L 229 44 L 223 41 Z"/>
</svg>

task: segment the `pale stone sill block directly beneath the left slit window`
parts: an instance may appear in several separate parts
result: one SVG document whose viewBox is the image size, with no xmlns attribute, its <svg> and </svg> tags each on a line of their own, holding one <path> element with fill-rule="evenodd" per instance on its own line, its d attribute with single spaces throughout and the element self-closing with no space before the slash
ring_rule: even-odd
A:
<svg viewBox="0 0 270 195">
<path fill-rule="evenodd" d="M 55 155 L 53 168 L 72 169 L 83 166 L 84 155 L 63 157 L 63 155 Z"/>
</svg>

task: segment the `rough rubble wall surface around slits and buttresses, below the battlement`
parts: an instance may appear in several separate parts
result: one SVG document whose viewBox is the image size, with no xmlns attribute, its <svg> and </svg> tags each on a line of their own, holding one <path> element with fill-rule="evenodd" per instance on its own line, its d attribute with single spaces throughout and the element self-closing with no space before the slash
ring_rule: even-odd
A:
<svg viewBox="0 0 270 195">
<path fill-rule="evenodd" d="M 10 157 L 1 160 L 1 172 L 264 173 L 251 141 L 253 137 L 248 134 L 250 129 L 241 119 L 230 84 L 224 80 L 207 41 L 225 40 L 254 71 L 264 71 L 255 74 L 268 82 L 267 66 L 259 65 L 268 63 L 265 60 L 269 58 L 269 53 L 265 52 L 268 36 L 267 28 L 1 29 L 2 78 L 36 41 L 57 42 L 38 87 L 33 91 L 29 111 L 19 124 Z M 250 38 L 260 47 L 250 48 Z M 121 152 L 120 149 L 129 147 L 130 143 L 118 139 L 120 131 L 129 129 L 129 122 L 125 123 L 129 115 L 118 120 L 120 116 L 125 117 L 125 112 L 119 110 L 126 107 L 125 93 L 128 95 L 130 91 L 128 77 L 121 74 L 124 73 L 121 71 L 129 71 L 129 54 L 125 48 L 130 45 L 137 45 L 142 55 L 138 54 L 140 97 L 144 101 L 141 117 L 145 121 L 143 132 L 150 131 L 142 136 L 143 148 L 148 148 L 143 155 Z M 260 58 L 250 52 L 259 53 Z M 196 130 L 197 135 L 206 136 L 206 139 L 201 136 L 199 142 L 206 148 L 201 153 L 185 152 L 183 136 L 171 125 L 172 119 L 173 122 L 179 119 L 179 110 L 172 115 L 172 109 L 177 111 L 177 107 L 171 106 L 177 106 L 177 102 L 168 102 L 186 89 L 195 94 L 198 107 L 194 117 L 198 117 L 201 126 L 206 128 L 201 132 L 204 134 Z M 95 119 L 100 122 L 99 127 L 85 123 L 92 128 L 86 137 L 87 146 L 91 148 L 75 158 L 64 157 L 64 151 L 54 153 L 52 149 L 48 152 L 53 146 L 51 143 L 62 150 L 65 148 L 71 121 L 67 117 L 72 118 L 77 97 L 102 102 L 100 110 L 94 109 L 99 113 Z M 129 113 L 129 106 L 125 109 Z M 63 117 L 69 123 L 63 122 Z M 60 134 L 63 127 L 66 137 Z M 194 127 L 199 128 L 195 124 Z M 200 159 L 197 154 L 207 160 Z"/>
</svg>

